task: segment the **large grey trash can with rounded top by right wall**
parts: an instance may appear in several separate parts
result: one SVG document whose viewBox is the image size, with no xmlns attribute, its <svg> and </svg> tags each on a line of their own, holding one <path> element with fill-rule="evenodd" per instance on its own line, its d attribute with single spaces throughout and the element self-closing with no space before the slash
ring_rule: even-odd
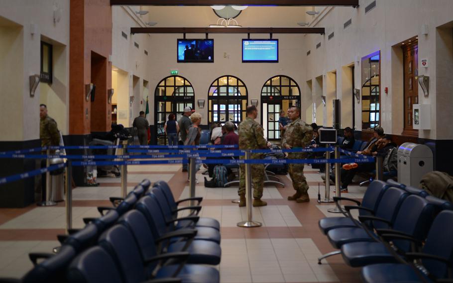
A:
<svg viewBox="0 0 453 283">
<path fill-rule="evenodd" d="M 398 182 L 418 187 L 422 177 L 433 171 L 433 151 L 424 145 L 405 142 L 398 148 Z"/>
</svg>

